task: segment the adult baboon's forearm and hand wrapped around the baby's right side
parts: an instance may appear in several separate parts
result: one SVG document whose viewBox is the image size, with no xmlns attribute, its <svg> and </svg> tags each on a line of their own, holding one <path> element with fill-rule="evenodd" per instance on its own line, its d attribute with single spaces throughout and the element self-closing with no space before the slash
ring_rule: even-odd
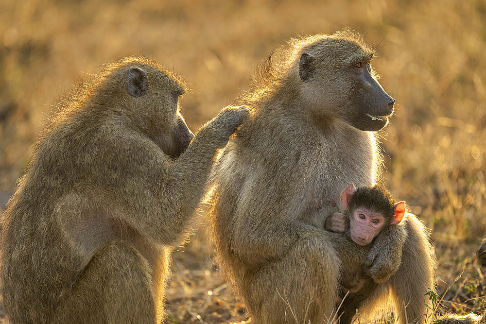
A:
<svg viewBox="0 0 486 324">
<path fill-rule="evenodd" d="M 380 232 L 366 258 L 364 271 L 376 282 L 388 280 L 400 266 L 406 239 L 407 230 L 404 224 L 388 226 Z"/>
</svg>

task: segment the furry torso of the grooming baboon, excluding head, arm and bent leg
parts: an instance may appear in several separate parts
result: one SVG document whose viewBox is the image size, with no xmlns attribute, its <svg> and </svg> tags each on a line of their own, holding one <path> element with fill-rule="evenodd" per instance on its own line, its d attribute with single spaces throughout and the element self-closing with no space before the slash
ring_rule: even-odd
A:
<svg viewBox="0 0 486 324">
<path fill-rule="evenodd" d="M 135 131 L 100 132 L 110 129 L 113 122 L 107 118 L 92 125 L 86 114 L 75 113 L 69 123 L 56 125 L 9 203 L 16 208 L 3 224 L 2 254 L 11 255 L 15 262 L 3 259 L 3 265 L 17 273 L 18 280 L 9 285 L 17 286 L 17 294 L 23 295 L 17 298 L 28 301 L 33 309 L 36 305 L 54 308 L 94 253 L 114 239 L 136 246 L 153 265 L 156 286 L 162 284 L 158 269 L 165 269 L 163 246 L 147 241 L 122 221 L 120 213 L 140 212 L 136 209 L 143 203 L 126 199 L 139 197 L 140 189 L 146 191 L 143 199 L 154 200 L 155 188 L 138 181 L 134 173 L 134 167 L 146 162 L 142 159 L 159 160 L 160 165 L 172 162 L 164 159 L 154 142 Z M 83 127 L 75 127 L 78 124 Z M 100 160 L 111 165 L 100 165 Z M 145 212 L 153 211 L 146 206 Z"/>
</svg>

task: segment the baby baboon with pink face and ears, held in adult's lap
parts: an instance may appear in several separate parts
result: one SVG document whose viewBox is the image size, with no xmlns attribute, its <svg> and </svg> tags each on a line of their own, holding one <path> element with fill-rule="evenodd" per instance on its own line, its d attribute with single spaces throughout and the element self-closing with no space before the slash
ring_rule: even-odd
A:
<svg viewBox="0 0 486 324">
<path fill-rule="evenodd" d="M 326 229 L 345 232 L 349 240 L 361 246 L 371 243 L 388 226 L 398 225 L 405 215 L 405 202 L 395 203 L 390 192 L 378 184 L 360 188 L 350 184 L 341 194 L 341 207 L 347 211 L 346 215 L 334 213 L 328 217 Z M 339 217 L 341 215 L 344 219 Z M 356 309 L 376 289 L 377 283 L 364 273 L 364 259 L 359 262 L 349 257 L 353 255 L 349 253 L 349 244 L 337 242 L 335 247 L 343 264 L 340 297 L 344 300 L 339 309 L 340 324 L 350 324 Z M 363 256 L 362 253 L 354 255 Z"/>
</svg>

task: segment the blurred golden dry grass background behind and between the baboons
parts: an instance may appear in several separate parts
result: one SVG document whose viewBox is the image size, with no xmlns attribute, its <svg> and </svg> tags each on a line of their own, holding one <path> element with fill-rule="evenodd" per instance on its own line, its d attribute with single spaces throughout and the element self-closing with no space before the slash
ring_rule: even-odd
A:
<svg viewBox="0 0 486 324">
<path fill-rule="evenodd" d="M 486 0 L 4 0 L 0 2 L 0 209 L 46 117 L 78 76 L 144 55 L 182 74 L 192 131 L 248 89 L 296 35 L 349 27 L 397 100 L 383 180 L 433 230 L 438 291 L 454 312 L 486 308 Z M 174 254 L 167 323 L 244 318 L 204 229 Z M 424 288 L 424 293 L 426 288 Z"/>
</svg>

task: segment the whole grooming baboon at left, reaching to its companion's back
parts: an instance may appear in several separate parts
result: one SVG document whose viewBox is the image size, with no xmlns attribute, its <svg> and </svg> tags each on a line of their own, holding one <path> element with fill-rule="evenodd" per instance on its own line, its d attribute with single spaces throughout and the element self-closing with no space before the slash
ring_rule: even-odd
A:
<svg viewBox="0 0 486 324">
<path fill-rule="evenodd" d="M 129 57 L 60 101 L 2 217 L 10 323 L 163 320 L 171 249 L 247 115 L 228 107 L 193 136 L 178 108 L 185 88 Z"/>
</svg>

